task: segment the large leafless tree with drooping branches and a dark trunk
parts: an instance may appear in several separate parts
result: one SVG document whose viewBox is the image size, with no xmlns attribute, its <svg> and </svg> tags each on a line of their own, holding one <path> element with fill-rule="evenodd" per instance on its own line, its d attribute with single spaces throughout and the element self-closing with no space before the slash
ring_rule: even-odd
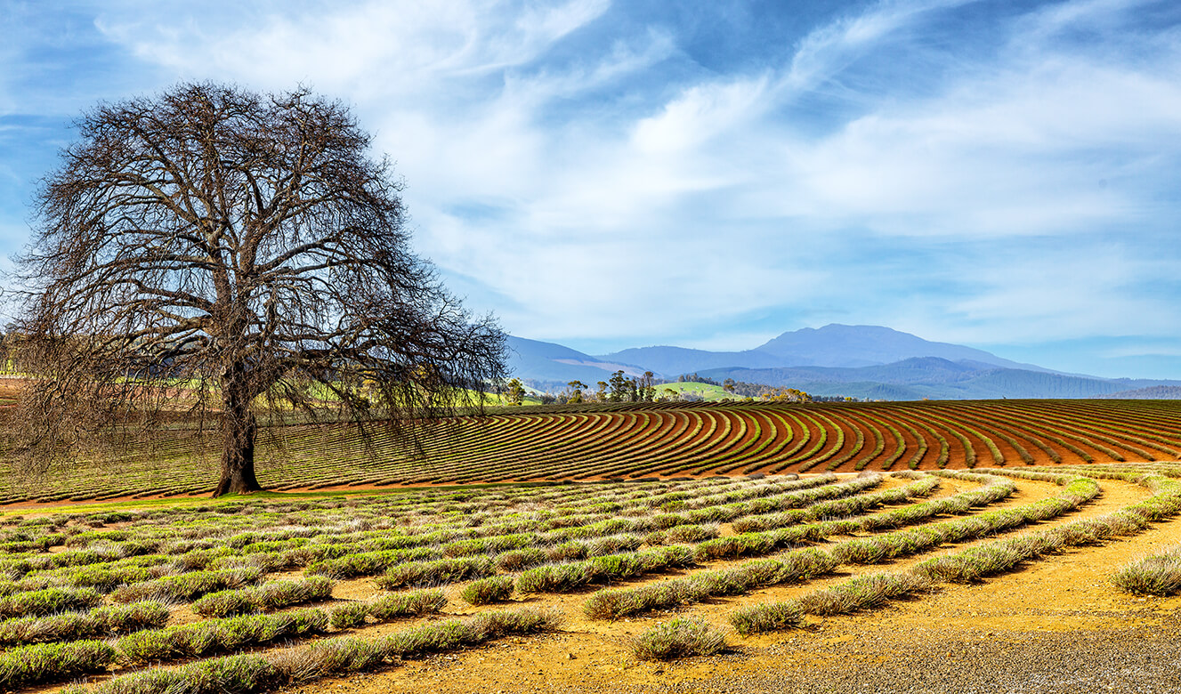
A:
<svg viewBox="0 0 1181 694">
<path fill-rule="evenodd" d="M 214 414 L 215 496 L 247 492 L 260 408 L 406 421 L 503 378 L 503 334 L 410 250 L 402 184 L 340 103 L 184 84 L 78 129 L 19 258 L 40 465 L 96 433 Z"/>
</svg>

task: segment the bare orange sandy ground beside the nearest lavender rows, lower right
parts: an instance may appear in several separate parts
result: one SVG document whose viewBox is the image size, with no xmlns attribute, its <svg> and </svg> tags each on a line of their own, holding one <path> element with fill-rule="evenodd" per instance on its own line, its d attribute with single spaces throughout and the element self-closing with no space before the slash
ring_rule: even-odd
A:
<svg viewBox="0 0 1181 694">
<path fill-rule="evenodd" d="M 947 480 L 941 493 L 959 491 L 960 484 Z M 1001 505 L 1052 496 L 1055 489 L 1020 482 L 1019 495 Z M 1103 489 L 1098 499 L 1053 523 L 1108 513 L 1148 496 L 1124 483 L 1104 482 Z M 810 618 L 803 629 L 768 636 L 743 639 L 730 633 L 725 654 L 672 663 L 637 661 L 627 642 L 674 613 L 592 622 L 580 614 L 589 591 L 542 596 L 523 603 L 560 609 L 567 623 L 559 634 L 511 639 L 283 694 L 1176 692 L 1181 690 L 1181 597 L 1129 596 L 1111 587 L 1109 577 L 1129 561 L 1179 542 L 1181 520 L 1159 524 L 1122 542 L 1070 550 L 980 584 L 946 587 L 873 613 Z M 941 551 L 960 551 L 967 544 Z M 867 570 L 893 571 L 916 561 Z M 702 616 L 724 628 L 726 615 L 740 604 L 784 600 L 849 575 L 715 600 L 676 614 Z M 455 591 L 449 589 L 451 616 L 477 611 Z M 353 600 L 376 594 L 364 581 L 341 584 L 335 592 Z M 403 628 L 373 627 L 359 635 Z"/>
</svg>

